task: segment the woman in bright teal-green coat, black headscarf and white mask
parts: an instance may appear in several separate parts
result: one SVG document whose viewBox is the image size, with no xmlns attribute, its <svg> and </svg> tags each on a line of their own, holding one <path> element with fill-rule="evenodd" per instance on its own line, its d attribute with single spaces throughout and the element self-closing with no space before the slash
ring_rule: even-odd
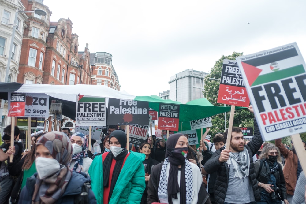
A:
<svg viewBox="0 0 306 204">
<path fill-rule="evenodd" d="M 90 168 L 91 187 L 102 204 L 139 204 L 145 189 L 144 154 L 128 152 L 123 131 L 110 134 L 110 152 L 97 155 Z"/>
</svg>

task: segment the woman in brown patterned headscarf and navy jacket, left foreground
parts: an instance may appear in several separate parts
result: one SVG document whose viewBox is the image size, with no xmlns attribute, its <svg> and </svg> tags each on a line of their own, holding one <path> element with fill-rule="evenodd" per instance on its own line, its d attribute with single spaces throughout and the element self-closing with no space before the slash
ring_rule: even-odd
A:
<svg viewBox="0 0 306 204">
<path fill-rule="evenodd" d="M 44 134 L 36 143 L 36 170 L 21 191 L 19 203 L 73 203 L 82 193 L 85 177 L 69 169 L 72 159 L 71 142 L 63 132 Z M 95 195 L 89 189 L 89 203 L 96 203 Z"/>
</svg>

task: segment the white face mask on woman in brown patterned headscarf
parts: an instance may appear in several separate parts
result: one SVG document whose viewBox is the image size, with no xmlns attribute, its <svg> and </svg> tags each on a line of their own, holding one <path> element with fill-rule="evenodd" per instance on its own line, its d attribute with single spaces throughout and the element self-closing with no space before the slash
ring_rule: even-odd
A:
<svg viewBox="0 0 306 204">
<path fill-rule="evenodd" d="M 35 159 L 36 170 L 40 179 L 53 175 L 60 169 L 60 164 L 56 159 L 37 157 Z"/>
</svg>

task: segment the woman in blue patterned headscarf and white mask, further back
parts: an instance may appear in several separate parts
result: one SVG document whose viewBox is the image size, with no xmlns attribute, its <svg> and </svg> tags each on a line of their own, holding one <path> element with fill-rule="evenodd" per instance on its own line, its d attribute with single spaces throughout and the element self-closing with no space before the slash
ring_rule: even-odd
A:
<svg viewBox="0 0 306 204">
<path fill-rule="evenodd" d="M 76 172 L 86 173 L 91 165 L 92 159 L 88 157 L 86 148 L 88 146 L 86 136 L 81 132 L 76 132 L 70 137 L 72 143 L 72 161 L 70 169 Z"/>
</svg>

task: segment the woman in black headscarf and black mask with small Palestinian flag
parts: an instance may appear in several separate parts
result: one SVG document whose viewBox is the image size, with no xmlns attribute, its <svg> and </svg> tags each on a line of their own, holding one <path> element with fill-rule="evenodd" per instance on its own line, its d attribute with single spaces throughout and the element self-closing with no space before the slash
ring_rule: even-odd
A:
<svg viewBox="0 0 306 204">
<path fill-rule="evenodd" d="M 151 169 L 147 204 L 211 203 L 197 165 L 186 159 L 188 139 L 184 134 L 169 136 L 166 159 Z"/>
</svg>

